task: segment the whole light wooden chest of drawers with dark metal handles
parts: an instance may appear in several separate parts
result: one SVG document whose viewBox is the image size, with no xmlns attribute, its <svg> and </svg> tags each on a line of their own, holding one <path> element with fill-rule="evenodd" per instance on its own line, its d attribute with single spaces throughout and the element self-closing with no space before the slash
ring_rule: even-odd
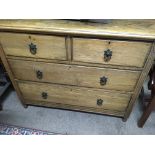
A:
<svg viewBox="0 0 155 155">
<path fill-rule="evenodd" d="M 126 120 L 154 59 L 154 20 L 1 20 L 0 56 L 22 104 Z"/>
</svg>

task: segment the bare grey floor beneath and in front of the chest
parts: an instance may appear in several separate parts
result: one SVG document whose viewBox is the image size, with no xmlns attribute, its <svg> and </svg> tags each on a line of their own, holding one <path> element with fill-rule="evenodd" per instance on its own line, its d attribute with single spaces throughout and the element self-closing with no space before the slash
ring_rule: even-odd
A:
<svg viewBox="0 0 155 155">
<path fill-rule="evenodd" d="M 120 118 L 90 113 L 34 106 L 24 109 L 16 92 L 11 90 L 3 102 L 0 122 L 71 135 L 155 134 L 155 112 L 151 114 L 143 129 L 137 127 L 137 120 L 142 113 L 138 102 L 128 121 L 123 122 Z"/>
</svg>

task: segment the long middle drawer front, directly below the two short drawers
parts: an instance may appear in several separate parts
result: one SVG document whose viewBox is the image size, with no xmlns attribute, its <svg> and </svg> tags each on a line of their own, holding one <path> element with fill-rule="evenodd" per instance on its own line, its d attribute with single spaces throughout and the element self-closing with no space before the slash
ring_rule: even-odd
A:
<svg viewBox="0 0 155 155">
<path fill-rule="evenodd" d="M 133 91 L 140 71 L 127 71 L 9 59 L 15 78 L 113 90 Z M 27 74 L 28 73 L 28 74 Z"/>
</svg>

